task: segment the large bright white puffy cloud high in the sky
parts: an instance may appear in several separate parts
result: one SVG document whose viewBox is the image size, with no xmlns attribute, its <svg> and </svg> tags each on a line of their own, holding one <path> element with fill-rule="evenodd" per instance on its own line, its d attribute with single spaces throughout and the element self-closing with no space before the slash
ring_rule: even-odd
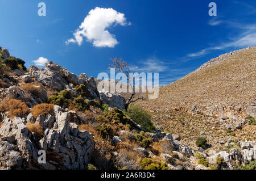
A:
<svg viewBox="0 0 256 181">
<path fill-rule="evenodd" d="M 84 37 L 87 41 L 92 42 L 94 47 L 113 48 L 118 44 L 115 35 L 111 34 L 107 28 L 112 25 L 120 24 L 121 26 L 130 25 L 126 22 L 125 14 L 117 12 L 112 8 L 96 7 L 89 11 L 84 22 L 73 33 L 74 38 L 65 41 L 65 44 L 77 43 L 82 44 Z"/>
</svg>

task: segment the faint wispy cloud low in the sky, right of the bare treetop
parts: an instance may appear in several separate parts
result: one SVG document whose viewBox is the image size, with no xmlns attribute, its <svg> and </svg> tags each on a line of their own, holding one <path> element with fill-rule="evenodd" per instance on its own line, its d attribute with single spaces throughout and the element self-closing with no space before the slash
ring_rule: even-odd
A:
<svg viewBox="0 0 256 181">
<path fill-rule="evenodd" d="M 133 65 L 130 67 L 131 71 L 138 72 L 161 72 L 166 71 L 168 66 L 164 62 L 160 61 L 158 58 L 148 58 L 146 61 L 142 62 L 142 66 Z"/>
</svg>

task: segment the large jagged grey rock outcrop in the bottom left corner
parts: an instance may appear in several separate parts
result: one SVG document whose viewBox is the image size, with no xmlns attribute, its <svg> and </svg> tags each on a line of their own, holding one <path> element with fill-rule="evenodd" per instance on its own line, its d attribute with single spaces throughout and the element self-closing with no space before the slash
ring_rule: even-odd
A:
<svg viewBox="0 0 256 181">
<path fill-rule="evenodd" d="M 28 131 L 20 117 L 3 120 L 0 128 L 0 169 L 85 169 L 93 157 L 93 135 L 80 132 L 67 112 L 54 106 L 53 115 L 40 115 L 36 124 L 44 127 L 40 137 Z M 32 115 L 28 120 L 33 120 Z M 47 153 L 46 163 L 38 163 L 38 151 Z M 3 163 L 3 164 L 2 164 Z"/>
</svg>

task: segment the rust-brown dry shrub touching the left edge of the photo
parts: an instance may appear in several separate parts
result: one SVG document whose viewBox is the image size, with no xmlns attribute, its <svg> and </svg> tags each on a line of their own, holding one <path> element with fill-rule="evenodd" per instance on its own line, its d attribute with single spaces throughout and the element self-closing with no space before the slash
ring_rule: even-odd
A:
<svg viewBox="0 0 256 181">
<path fill-rule="evenodd" d="M 24 102 L 16 99 L 5 99 L 0 103 L 0 112 L 8 112 L 8 116 L 13 119 L 15 116 L 22 117 L 28 115 L 30 110 Z"/>
</svg>

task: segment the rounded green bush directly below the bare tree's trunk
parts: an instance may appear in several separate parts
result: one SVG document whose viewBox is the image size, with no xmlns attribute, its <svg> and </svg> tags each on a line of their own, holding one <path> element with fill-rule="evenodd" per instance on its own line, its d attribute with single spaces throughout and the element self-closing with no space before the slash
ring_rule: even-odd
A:
<svg viewBox="0 0 256 181">
<path fill-rule="evenodd" d="M 155 124 L 151 121 L 151 116 L 142 109 L 142 106 L 139 104 L 131 105 L 125 111 L 125 114 L 135 123 L 141 125 L 147 132 L 155 131 Z"/>
</svg>

